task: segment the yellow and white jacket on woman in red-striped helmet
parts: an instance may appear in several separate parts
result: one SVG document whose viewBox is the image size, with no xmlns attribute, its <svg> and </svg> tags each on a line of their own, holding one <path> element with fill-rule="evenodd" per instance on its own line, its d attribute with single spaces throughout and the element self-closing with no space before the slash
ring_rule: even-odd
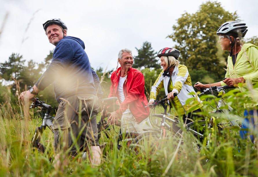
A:
<svg viewBox="0 0 258 177">
<path fill-rule="evenodd" d="M 160 91 L 160 89 L 164 86 L 166 95 L 172 91 L 175 91 L 178 95 L 172 100 L 172 104 L 176 108 L 175 115 L 184 115 L 191 108 L 195 107 L 190 112 L 202 107 L 202 102 L 200 98 L 196 95 L 192 84 L 191 77 L 188 73 L 187 67 L 185 65 L 179 64 L 178 67 L 174 68 L 174 71 L 169 76 L 163 76 L 164 70 L 160 73 L 154 85 L 151 87 L 150 92 L 150 101 L 154 101 Z M 192 98 L 189 102 L 188 99 Z M 188 101 L 187 101 L 188 100 Z M 195 102 L 198 100 L 198 102 Z M 186 104 L 188 102 L 188 104 Z M 195 104 L 192 104 L 195 102 Z"/>
</svg>

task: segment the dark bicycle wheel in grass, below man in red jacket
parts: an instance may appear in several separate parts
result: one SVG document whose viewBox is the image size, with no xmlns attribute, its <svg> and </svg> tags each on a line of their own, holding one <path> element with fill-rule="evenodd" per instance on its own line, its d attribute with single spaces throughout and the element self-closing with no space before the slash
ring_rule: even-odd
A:
<svg viewBox="0 0 258 177">
<path fill-rule="evenodd" d="M 124 152 L 127 152 L 127 149 L 130 143 L 139 135 L 140 133 L 137 133 L 137 132 L 126 132 L 113 137 L 104 146 L 104 149 L 102 152 L 103 156 L 106 158 L 109 158 L 109 156 L 113 156 L 113 153 L 115 151 L 123 150 Z"/>
</svg>

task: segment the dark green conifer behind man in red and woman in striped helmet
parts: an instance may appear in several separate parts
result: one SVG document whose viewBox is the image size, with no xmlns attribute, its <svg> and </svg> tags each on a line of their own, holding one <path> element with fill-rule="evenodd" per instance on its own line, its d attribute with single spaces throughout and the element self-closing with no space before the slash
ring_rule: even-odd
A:
<svg viewBox="0 0 258 177">
<path fill-rule="evenodd" d="M 135 49 L 137 49 L 135 47 Z M 160 68 L 159 64 L 157 64 L 158 59 L 156 59 L 157 52 L 154 52 L 151 47 L 151 43 L 144 42 L 140 49 L 137 49 L 138 56 L 134 56 L 134 68 Z"/>
</svg>

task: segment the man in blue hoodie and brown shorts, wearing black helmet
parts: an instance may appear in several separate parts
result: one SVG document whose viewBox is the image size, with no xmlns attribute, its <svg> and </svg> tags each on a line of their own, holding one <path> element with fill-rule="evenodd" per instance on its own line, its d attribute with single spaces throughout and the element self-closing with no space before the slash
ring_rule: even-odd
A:
<svg viewBox="0 0 258 177">
<path fill-rule="evenodd" d="M 71 138 L 73 133 L 75 138 L 78 137 L 80 150 L 90 151 L 91 162 L 99 164 L 101 150 L 96 115 L 100 106 L 98 97 L 101 98 L 103 94 L 99 78 L 91 69 L 84 42 L 67 36 L 67 26 L 62 20 L 50 19 L 43 27 L 49 42 L 56 46 L 52 62 L 38 82 L 29 91 L 21 93 L 19 98 L 29 102 L 54 82 L 56 101 L 59 103 L 53 128 L 55 150 L 65 152 L 70 148 L 74 144 Z M 76 151 L 75 146 L 71 147 L 71 156 L 75 156 Z M 56 158 L 60 159 L 60 155 L 57 154 Z"/>
</svg>

